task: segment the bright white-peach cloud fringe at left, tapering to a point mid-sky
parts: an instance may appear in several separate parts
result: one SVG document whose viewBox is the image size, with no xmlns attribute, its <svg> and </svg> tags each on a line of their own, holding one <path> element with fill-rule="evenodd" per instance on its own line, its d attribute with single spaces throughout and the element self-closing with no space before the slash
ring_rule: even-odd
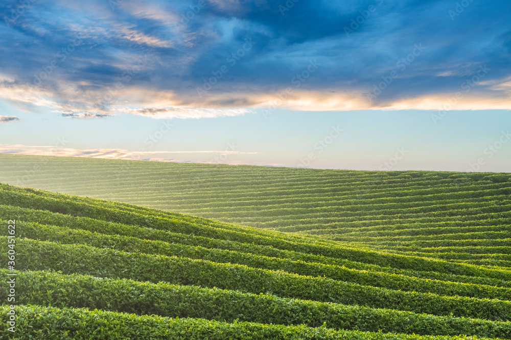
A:
<svg viewBox="0 0 511 340">
<path fill-rule="evenodd" d="M 118 114 L 133 114 L 155 119 L 214 118 L 238 116 L 252 112 L 243 108 L 222 108 L 214 101 L 203 101 L 195 107 L 193 100 L 178 98 L 174 93 L 144 87 L 106 89 L 94 88 L 88 82 L 55 83 L 53 91 L 31 84 L 19 85 L 0 74 L 0 94 L 22 111 L 37 112 L 38 108 L 53 109 L 69 118 L 104 118 Z"/>
</svg>

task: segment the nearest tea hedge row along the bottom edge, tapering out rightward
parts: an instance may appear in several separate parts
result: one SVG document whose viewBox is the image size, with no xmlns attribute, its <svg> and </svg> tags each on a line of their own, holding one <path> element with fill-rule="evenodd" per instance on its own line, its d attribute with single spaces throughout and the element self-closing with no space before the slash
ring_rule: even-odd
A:
<svg viewBox="0 0 511 340">
<path fill-rule="evenodd" d="M 86 308 L 55 308 L 21 305 L 16 308 L 15 333 L 7 311 L 0 306 L 0 335 L 17 340 L 478 340 L 477 336 L 415 335 L 382 332 L 334 330 L 326 327 L 282 326 L 248 322 L 225 323 L 205 319 L 137 316 Z M 14 335 L 14 336 L 13 336 Z"/>
</svg>

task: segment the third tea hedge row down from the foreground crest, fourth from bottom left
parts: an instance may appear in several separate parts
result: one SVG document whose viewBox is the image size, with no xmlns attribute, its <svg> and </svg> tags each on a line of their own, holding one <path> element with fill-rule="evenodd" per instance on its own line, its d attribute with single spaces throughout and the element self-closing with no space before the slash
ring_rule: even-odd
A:
<svg viewBox="0 0 511 340">
<path fill-rule="evenodd" d="M 275 258 L 238 251 L 207 249 L 197 246 L 142 240 L 119 235 L 109 236 L 81 229 L 69 229 L 65 227 L 41 225 L 38 223 L 18 222 L 16 226 L 18 229 L 18 237 L 34 240 L 60 242 L 63 244 L 83 244 L 96 248 L 117 249 L 126 252 L 137 251 L 147 254 L 206 259 L 216 263 L 235 263 L 252 268 L 284 270 L 289 273 L 304 276 L 323 276 L 334 280 L 385 287 L 392 290 L 511 301 L 511 289 L 487 285 L 462 284 L 374 271 L 359 271 L 340 266 L 307 263 L 301 260 Z"/>
</svg>

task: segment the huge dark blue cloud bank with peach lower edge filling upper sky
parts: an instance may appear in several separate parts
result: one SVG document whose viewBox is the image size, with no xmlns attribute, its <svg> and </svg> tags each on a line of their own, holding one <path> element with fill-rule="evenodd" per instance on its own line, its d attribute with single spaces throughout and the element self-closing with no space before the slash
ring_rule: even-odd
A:
<svg viewBox="0 0 511 340">
<path fill-rule="evenodd" d="M 488 67 L 457 108 L 511 109 L 504 0 L 470 2 L 454 17 L 456 4 L 439 0 L 114 4 L 33 2 L 11 18 L 0 27 L 9 60 L 0 97 L 75 118 L 219 117 L 268 105 L 436 110 Z M 2 2 L 0 16 L 16 6 Z M 371 97 L 375 86 L 384 89 Z"/>
</svg>

